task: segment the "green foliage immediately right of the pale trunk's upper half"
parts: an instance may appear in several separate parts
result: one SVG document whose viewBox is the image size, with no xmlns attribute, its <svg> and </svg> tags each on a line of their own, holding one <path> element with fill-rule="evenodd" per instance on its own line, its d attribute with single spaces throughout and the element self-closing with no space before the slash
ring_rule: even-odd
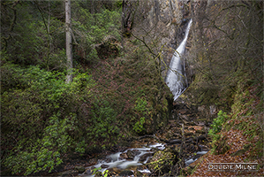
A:
<svg viewBox="0 0 264 177">
<path fill-rule="evenodd" d="M 118 31 L 121 8 L 114 11 L 103 9 L 101 12 L 91 13 L 81 2 L 76 1 L 72 6 L 72 30 L 77 36 L 75 44 L 86 53 L 84 59 L 87 62 L 96 62 L 98 61 L 96 44 L 102 43 L 108 36 L 112 36 L 118 41 L 121 40 Z"/>
</svg>

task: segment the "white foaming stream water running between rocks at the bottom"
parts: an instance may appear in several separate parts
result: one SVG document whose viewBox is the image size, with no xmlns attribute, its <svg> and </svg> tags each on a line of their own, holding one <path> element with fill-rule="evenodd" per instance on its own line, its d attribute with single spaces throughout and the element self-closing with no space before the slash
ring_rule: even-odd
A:
<svg viewBox="0 0 264 177">
<path fill-rule="evenodd" d="M 87 166 L 84 173 L 79 173 L 79 176 L 92 177 L 94 171 L 104 173 L 106 170 L 111 171 L 111 174 L 118 176 L 135 176 L 135 173 L 140 175 L 148 175 L 152 173 L 147 168 L 147 163 L 154 156 L 155 152 L 159 150 L 170 149 L 169 144 L 152 142 L 151 144 L 145 144 L 141 148 L 129 148 L 124 151 L 119 151 L 109 156 L 98 159 L 96 165 Z M 202 146 L 201 146 L 202 150 Z M 185 166 L 192 164 L 201 155 L 207 153 L 207 150 L 196 151 L 189 157 L 185 158 Z M 95 169 L 95 170 L 94 170 Z M 136 172 L 137 171 L 137 172 Z"/>
</svg>

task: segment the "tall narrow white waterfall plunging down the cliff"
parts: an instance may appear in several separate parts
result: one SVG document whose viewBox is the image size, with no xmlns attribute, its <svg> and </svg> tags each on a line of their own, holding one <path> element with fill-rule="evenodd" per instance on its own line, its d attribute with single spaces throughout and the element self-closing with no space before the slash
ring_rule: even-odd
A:
<svg viewBox="0 0 264 177">
<path fill-rule="evenodd" d="M 189 21 L 185 30 L 185 38 L 183 42 L 181 42 L 181 44 L 177 47 L 177 50 L 174 52 L 173 57 L 170 60 L 170 69 L 166 77 L 166 84 L 170 88 L 170 91 L 174 96 L 174 100 L 176 100 L 177 97 L 180 96 L 185 90 L 185 71 L 183 69 L 181 57 L 185 53 L 185 45 L 191 25 L 192 19 Z"/>
</svg>

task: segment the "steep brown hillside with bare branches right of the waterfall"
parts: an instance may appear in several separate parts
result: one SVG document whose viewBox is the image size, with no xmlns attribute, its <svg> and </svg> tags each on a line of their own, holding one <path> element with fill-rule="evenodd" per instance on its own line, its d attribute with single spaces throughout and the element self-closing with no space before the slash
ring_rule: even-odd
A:
<svg viewBox="0 0 264 177">
<path fill-rule="evenodd" d="M 219 113 L 208 132 L 212 149 L 186 170 L 192 176 L 263 175 L 263 3 L 199 5 L 189 55 L 192 85 L 185 96 Z M 257 165 L 256 171 L 234 171 L 210 163 Z"/>
</svg>

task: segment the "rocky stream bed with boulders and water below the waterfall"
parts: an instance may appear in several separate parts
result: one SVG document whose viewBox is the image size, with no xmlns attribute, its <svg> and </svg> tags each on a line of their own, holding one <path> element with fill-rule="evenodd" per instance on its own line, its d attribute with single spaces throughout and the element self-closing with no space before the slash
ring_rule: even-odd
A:
<svg viewBox="0 0 264 177">
<path fill-rule="evenodd" d="M 63 171 L 49 175 L 185 175 L 195 167 L 193 162 L 209 150 L 208 122 L 202 107 L 174 103 L 172 119 L 155 135 L 132 137 L 126 147 L 116 147 L 82 159 L 71 158 Z"/>
</svg>

